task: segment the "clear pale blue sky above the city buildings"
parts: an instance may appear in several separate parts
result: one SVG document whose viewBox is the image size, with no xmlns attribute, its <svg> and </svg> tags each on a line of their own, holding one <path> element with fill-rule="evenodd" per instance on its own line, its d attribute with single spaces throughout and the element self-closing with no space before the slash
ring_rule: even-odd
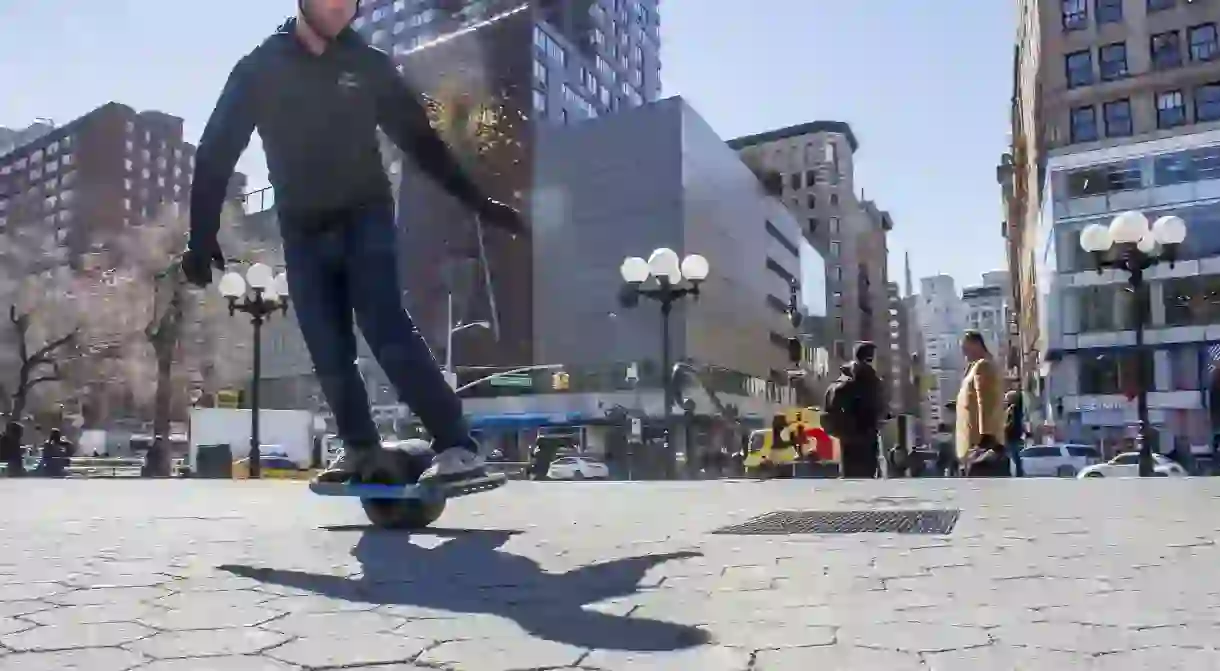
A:
<svg viewBox="0 0 1220 671">
<path fill-rule="evenodd" d="M 932 9 L 935 5 L 935 9 Z M 293 0 L 0 0 L 0 126 L 110 100 L 196 140 L 233 63 Z M 856 187 L 888 209 L 891 277 L 959 283 L 1003 266 L 1013 2 L 662 0 L 662 81 L 726 139 L 811 120 L 860 139 Z M 256 148 L 257 145 L 251 145 Z M 265 183 L 260 151 L 239 166 Z"/>
</svg>

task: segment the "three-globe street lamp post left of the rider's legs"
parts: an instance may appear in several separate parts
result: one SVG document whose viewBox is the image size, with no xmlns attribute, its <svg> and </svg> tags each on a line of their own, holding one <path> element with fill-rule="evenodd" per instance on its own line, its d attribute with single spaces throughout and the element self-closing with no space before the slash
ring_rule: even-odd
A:
<svg viewBox="0 0 1220 671">
<path fill-rule="evenodd" d="M 221 278 L 221 295 L 228 300 L 229 316 L 250 315 L 254 323 L 254 371 L 250 376 L 250 478 L 262 476 L 262 450 L 259 439 L 259 378 L 262 375 L 262 325 L 276 311 L 288 314 L 288 276 L 273 273 L 271 266 L 255 264 L 245 272 L 228 272 Z"/>
</svg>

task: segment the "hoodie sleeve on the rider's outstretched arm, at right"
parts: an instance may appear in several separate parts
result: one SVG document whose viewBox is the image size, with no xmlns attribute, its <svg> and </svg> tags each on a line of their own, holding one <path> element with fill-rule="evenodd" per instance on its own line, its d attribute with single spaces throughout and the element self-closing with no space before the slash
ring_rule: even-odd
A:
<svg viewBox="0 0 1220 671">
<path fill-rule="evenodd" d="M 377 121 L 382 131 L 450 195 L 471 207 L 482 205 L 487 196 L 432 128 L 418 94 L 411 90 L 386 52 L 373 51 L 377 57 Z"/>
</svg>

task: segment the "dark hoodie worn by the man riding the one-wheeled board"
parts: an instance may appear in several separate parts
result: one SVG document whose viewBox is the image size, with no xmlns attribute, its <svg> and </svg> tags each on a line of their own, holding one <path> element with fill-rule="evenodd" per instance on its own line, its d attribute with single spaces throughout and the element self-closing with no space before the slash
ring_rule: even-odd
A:
<svg viewBox="0 0 1220 671">
<path fill-rule="evenodd" d="M 316 55 L 296 37 L 296 20 L 288 20 L 233 68 L 199 140 L 192 248 L 215 245 L 233 170 L 255 129 L 281 226 L 389 203 L 378 127 L 460 201 L 477 207 L 487 200 L 433 131 L 420 96 L 388 54 L 346 28 Z"/>
</svg>

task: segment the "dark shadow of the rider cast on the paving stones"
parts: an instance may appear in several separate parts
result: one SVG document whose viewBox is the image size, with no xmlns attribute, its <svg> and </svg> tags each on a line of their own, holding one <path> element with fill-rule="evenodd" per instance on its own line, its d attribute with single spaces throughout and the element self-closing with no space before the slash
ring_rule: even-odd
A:
<svg viewBox="0 0 1220 671">
<path fill-rule="evenodd" d="M 578 648 L 667 651 L 710 640 L 698 627 L 583 608 L 633 594 L 649 569 L 699 553 L 642 555 L 548 573 L 532 559 L 500 551 L 516 533 L 429 529 L 420 536 L 448 538 L 429 549 L 411 543 L 405 533 L 367 529 L 351 551 L 364 570 L 359 578 L 235 565 L 220 569 L 333 599 L 495 615 L 538 638 Z"/>
</svg>

